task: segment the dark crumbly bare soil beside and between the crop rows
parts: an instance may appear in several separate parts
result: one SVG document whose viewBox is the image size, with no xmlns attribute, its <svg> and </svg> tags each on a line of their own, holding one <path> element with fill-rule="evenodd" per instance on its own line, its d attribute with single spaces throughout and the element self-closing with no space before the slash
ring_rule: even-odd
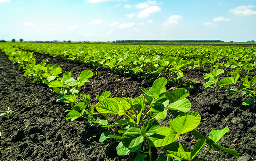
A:
<svg viewBox="0 0 256 161">
<path fill-rule="evenodd" d="M 59 64 L 63 72 L 70 71 L 76 78 L 83 70 L 92 70 L 91 83 L 80 87 L 80 93 L 90 94 L 91 101 L 97 103 L 95 94 L 110 91 L 111 97 L 135 98 L 143 95 L 140 87 L 148 89 L 152 82 L 109 73 L 67 62 L 63 59 L 36 54 L 37 62 L 49 58 L 48 63 Z M 67 105 L 56 103 L 59 97 L 46 85 L 32 84 L 32 79 L 24 77 L 18 66 L 0 52 L 0 112 L 12 109 L 10 117 L 0 117 L 0 161 L 133 161 L 134 156 L 118 156 L 116 146 L 109 142 L 99 143 L 99 131 L 105 129 L 85 125 L 82 119 L 71 122 L 65 119 Z M 242 91 L 233 95 L 231 102 L 224 89 L 219 90 L 219 97 L 214 89 L 204 88 L 203 75 L 199 69 L 185 70 L 184 80 L 197 80 L 188 97 L 192 103 L 191 111 L 198 112 L 202 121 L 196 128 L 205 137 L 211 130 L 229 126 L 229 132 L 218 144 L 235 149 L 240 158 L 229 153 L 212 149 L 207 161 L 252 161 L 256 160 L 256 110 L 242 106 L 245 100 Z M 221 78 L 220 78 L 221 79 Z M 240 82 L 241 83 L 241 82 Z M 167 86 L 167 89 L 170 87 Z M 121 119 L 121 118 L 119 118 Z M 167 120 L 160 121 L 160 126 L 169 126 Z M 93 134 L 97 134 L 93 137 Z M 178 142 L 189 150 L 195 145 L 191 133 L 182 135 Z M 207 151 L 205 146 L 199 157 Z M 162 148 L 153 148 L 153 160 L 165 154 Z M 146 159 L 147 160 L 147 159 Z"/>
</svg>

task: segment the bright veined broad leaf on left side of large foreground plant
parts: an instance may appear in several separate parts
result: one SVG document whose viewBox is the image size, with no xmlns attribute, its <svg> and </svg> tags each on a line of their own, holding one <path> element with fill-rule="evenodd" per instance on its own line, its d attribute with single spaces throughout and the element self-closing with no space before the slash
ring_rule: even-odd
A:
<svg viewBox="0 0 256 161">
<path fill-rule="evenodd" d="M 109 114 L 118 114 L 119 105 L 114 101 L 102 101 L 96 107 L 96 110 L 99 113 L 109 113 Z"/>
</svg>

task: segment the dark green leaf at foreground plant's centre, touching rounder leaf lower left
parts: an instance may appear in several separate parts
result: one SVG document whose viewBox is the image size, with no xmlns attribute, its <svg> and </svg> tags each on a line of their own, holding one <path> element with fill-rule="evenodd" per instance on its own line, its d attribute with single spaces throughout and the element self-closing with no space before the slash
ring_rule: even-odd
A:
<svg viewBox="0 0 256 161">
<path fill-rule="evenodd" d="M 158 127 L 159 123 L 157 120 L 150 119 L 143 124 L 142 129 L 145 131 L 146 136 L 151 136 L 158 130 Z"/>
</svg>

